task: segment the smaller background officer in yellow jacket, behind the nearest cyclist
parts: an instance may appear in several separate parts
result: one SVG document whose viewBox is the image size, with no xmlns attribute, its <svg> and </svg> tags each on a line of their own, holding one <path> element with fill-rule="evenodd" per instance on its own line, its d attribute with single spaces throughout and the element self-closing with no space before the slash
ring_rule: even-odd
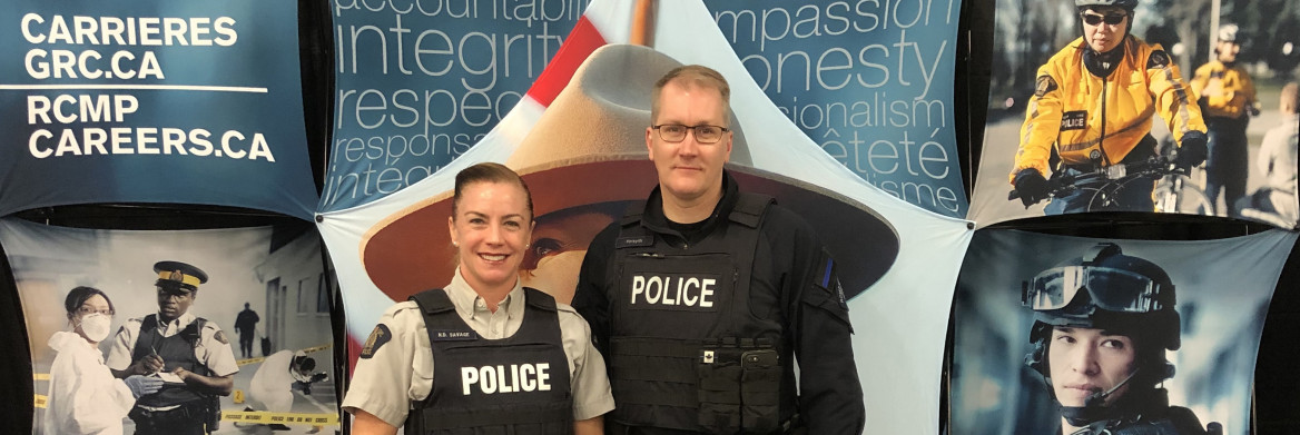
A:
<svg viewBox="0 0 1300 435">
<path fill-rule="evenodd" d="M 1205 195 L 1218 206 L 1223 191 L 1226 216 L 1236 217 L 1236 201 L 1245 196 L 1247 157 L 1245 126 L 1251 116 L 1260 114 L 1254 105 L 1254 83 L 1245 68 L 1238 65 L 1242 32 L 1236 25 L 1223 25 L 1214 45 L 1216 58 L 1201 65 L 1192 75 L 1191 88 L 1200 96 L 1201 113 L 1210 131 L 1209 160 L 1205 161 Z M 1219 214 L 1225 214 L 1219 210 Z"/>
</svg>

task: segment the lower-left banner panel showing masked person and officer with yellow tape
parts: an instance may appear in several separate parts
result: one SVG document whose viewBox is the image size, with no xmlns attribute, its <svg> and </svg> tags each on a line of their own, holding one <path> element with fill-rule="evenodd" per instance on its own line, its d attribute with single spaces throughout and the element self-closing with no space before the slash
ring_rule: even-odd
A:
<svg viewBox="0 0 1300 435">
<path fill-rule="evenodd" d="M 114 354 L 118 334 L 138 330 L 147 316 L 169 313 L 170 308 L 160 300 L 176 301 L 177 297 L 160 297 L 156 283 L 173 278 L 198 288 L 179 318 L 192 316 L 205 323 L 192 351 L 183 342 L 182 351 L 174 351 L 176 347 L 172 347 L 174 352 L 168 351 L 176 343 L 162 339 L 156 345 L 159 354 L 183 356 L 183 351 L 188 351 L 207 361 L 213 371 L 237 370 L 230 375 L 230 393 L 218 396 L 220 408 L 208 417 L 216 419 L 221 418 L 218 413 L 229 417 L 248 410 L 251 414 L 242 416 L 311 416 L 309 419 L 286 422 L 337 425 L 338 400 L 334 377 L 329 373 L 333 348 L 322 345 L 334 340 L 330 301 L 337 290 L 324 270 L 320 238 L 308 223 L 231 230 L 116 231 L 43 226 L 5 218 L 0 219 L 0 243 L 13 267 L 27 322 L 38 395 L 34 414 L 36 434 L 61 432 L 47 425 L 46 413 L 68 409 L 66 403 L 73 399 L 68 397 L 69 388 L 84 397 L 104 397 L 87 391 L 95 382 L 74 383 L 68 380 L 73 373 L 56 369 L 55 358 L 73 351 L 61 348 L 56 352 L 52 348 L 60 343 L 56 338 L 74 330 L 64 305 L 66 296 L 78 287 L 94 287 L 107 296 L 114 312 L 107 325 L 109 335 L 92 352 L 104 357 L 109 367 L 124 369 L 118 364 L 130 361 Z M 172 266 L 159 273 L 159 265 Z M 179 334 L 183 338 L 187 332 Z M 84 344 L 81 336 L 72 338 Z M 290 373 L 295 357 L 303 357 L 298 361 L 312 358 L 315 369 Z M 169 362 L 179 358 L 164 360 L 164 371 L 183 364 Z M 302 364 L 298 366 L 303 367 Z M 90 374 L 83 373 L 82 377 Z M 103 374 L 108 375 L 107 371 Z M 165 382 L 166 377 L 162 377 Z M 56 383 L 65 387 L 52 387 Z M 114 380 L 103 383 L 116 388 Z M 174 388 L 174 383 L 164 386 Z M 58 406 L 60 400 L 65 405 Z M 96 406 L 110 413 L 121 404 L 105 400 Z M 81 416 L 49 417 L 66 422 Z M 109 416 L 109 421 L 117 421 L 113 417 Z M 124 417 L 116 416 L 125 432 L 130 434 L 135 423 Z M 217 432 L 246 434 L 256 430 L 252 425 L 248 419 L 226 418 Z"/>
</svg>

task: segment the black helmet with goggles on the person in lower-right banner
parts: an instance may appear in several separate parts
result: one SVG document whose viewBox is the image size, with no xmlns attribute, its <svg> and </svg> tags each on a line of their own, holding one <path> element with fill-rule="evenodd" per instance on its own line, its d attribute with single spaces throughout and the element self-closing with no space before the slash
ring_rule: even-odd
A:
<svg viewBox="0 0 1300 435">
<path fill-rule="evenodd" d="M 1087 255 L 1058 264 L 1022 283 L 1022 303 L 1034 310 L 1026 364 L 1048 377 L 1045 342 L 1056 326 L 1117 331 L 1140 339 L 1148 364 L 1180 345 L 1174 283 L 1156 264 L 1126 256 L 1118 244 L 1098 243 Z M 1154 370 L 1164 380 L 1167 369 Z"/>
</svg>

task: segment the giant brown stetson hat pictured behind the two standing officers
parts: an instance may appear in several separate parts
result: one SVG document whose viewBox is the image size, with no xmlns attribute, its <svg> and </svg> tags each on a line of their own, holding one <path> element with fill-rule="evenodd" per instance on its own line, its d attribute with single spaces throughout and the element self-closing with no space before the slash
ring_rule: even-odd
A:
<svg viewBox="0 0 1300 435">
<path fill-rule="evenodd" d="M 658 186 L 645 134 L 654 83 L 681 62 L 649 47 L 598 48 L 542 113 L 504 165 L 533 192 L 534 216 L 580 205 L 645 200 Z M 898 255 L 898 238 L 866 205 L 788 177 L 749 168 L 738 123 L 728 171 L 741 191 L 766 193 L 800 210 L 827 244 L 848 297 L 875 283 Z M 389 216 L 361 239 L 361 262 L 393 300 L 451 280 L 455 249 L 443 222 L 451 191 Z"/>
</svg>

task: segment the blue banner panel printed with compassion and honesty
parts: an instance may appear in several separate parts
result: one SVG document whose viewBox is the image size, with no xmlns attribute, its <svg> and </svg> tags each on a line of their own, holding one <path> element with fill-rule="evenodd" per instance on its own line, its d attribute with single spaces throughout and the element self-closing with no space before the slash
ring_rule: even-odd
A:
<svg viewBox="0 0 1300 435">
<path fill-rule="evenodd" d="M 871 186 L 967 210 L 953 110 L 959 0 L 707 0 L 781 114 Z"/>
</svg>

